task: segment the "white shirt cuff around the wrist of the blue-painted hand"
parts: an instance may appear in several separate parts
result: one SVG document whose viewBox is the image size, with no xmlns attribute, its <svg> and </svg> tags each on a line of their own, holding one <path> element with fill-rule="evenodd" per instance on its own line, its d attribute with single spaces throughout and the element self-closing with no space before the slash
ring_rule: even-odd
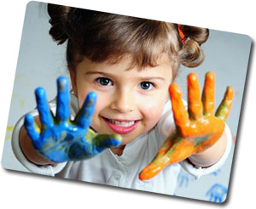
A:
<svg viewBox="0 0 256 209">
<path fill-rule="evenodd" d="M 52 111 L 55 112 L 55 102 L 49 103 L 49 107 Z M 38 111 L 37 110 L 32 110 L 29 112 L 32 116 L 38 116 Z M 17 121 L 15 124 L 15 128 L 12 134 L 12 149 L 14 151 L 15 157 L 17 158 L 20 163 L 26 167 L 26 169 L 29 172 L 41 174 L 41 175 L 48 175 L 48 176 L 55 176 L 55 173 L 61 172 L 61 170 L 66 166 L 66 162 L 64 163 L 58 163 L 55 166 L 47 165 L 47 166 L 38 166 L 36 164 L 33 164 L 31 161 L 28 161 L 26 159 L 26 156 L 23 154 L 21 148 L 20 148 L 20 140 L 19 140 L 19 135 L 20 135 L 20 129 L 23 126 L 24 123 L 24 117 L 20 117 L 20 120 Z"/>
</svg>

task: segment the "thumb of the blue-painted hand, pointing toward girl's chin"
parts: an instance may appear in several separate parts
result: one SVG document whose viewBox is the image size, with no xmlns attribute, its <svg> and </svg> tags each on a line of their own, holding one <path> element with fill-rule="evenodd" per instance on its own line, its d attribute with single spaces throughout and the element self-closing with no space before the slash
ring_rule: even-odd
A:
<svg viewBox="0 0 256 209">
<path fill-rule="evenodd" d="M 119 134 L 97 134 L 96 137 L 93 138 L 92 145 L 95 145 L 98 151 L 102 151 L 108 148 L 117 147 L 121 142 L 122 137 Z"/>
</svg>

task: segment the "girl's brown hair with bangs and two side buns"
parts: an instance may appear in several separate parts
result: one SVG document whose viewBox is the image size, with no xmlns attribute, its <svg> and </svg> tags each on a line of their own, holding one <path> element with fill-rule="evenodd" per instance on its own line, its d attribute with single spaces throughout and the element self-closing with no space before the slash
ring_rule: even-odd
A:
<svg viewBox="0 0 256 209">
<path fill-rule="evenodd" d="M 157 65 L 156 60 L 165 53 L 172 60 L 175 77 L 179 64 L 195 67 L 204 59 L 200 46 L 209 35 L 205 28 L 181 25 L 189 37 L 182 43 L 177 24 L 55 4 L 48 4 L 48 13 L 49 34 L 58 44 L 67 41 L 67 65 L 73 70 L 84 56 L 116 63 L 132 54 L 132 65 L 143 68 Z"/>
</svg>

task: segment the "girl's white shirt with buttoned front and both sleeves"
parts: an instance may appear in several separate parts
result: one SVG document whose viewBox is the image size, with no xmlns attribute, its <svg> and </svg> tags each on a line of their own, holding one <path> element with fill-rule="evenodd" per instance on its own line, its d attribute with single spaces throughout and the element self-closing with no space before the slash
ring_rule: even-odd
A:
<svg viewBox="0 0 256 209">
<path fill-rule="evenodd" d="M 55 100 L 49 102 L 50 109 L 55 112 Z M 74 118 L 78 112 L 78 100 L 71 94 L 71 116 Z M 38 111 L 30 112 L 32 116 L 37 116 Z M 160 121 L 148 133 L 133 140 L 130 144 L 125 145 L 123 154 L 114 155 L 111 150 L 105 150 L 100 155 L 86 161 L 68 161 L 59 163 L 55 167 L 37 166 L 26 160 L 20 150 L 19 133 L 23 125 L 24 116 L 16 123 L 12 135 L 12 147 L 15 156 L 20 163 L 30 172 L 57 176 L 61 178 L 76 179 L 85 182 L 108 184 L 123 188 L 139 189 L 160 194 L 173 195 L 177 185 L 177 176 L 182 166 L 185 171 L 189 172 L 195 178 L 200 178 L 211 172 L 217 171 L 224 161 L 226 161 L 231 149 L 230 128 L 225 126 L 227 135 L 227 148 L 222 158 L 212 167 L 201 168 L 195 167 L 189 161 L 182 161 L 166 167 L 162 172 L 146 181 L 138 178 L 139 172 L 152 161 L 154 155 L 160 149 L 160 145 L 166 140 L 166 137 L 175 129 L 171 102 L 167 102 L 163 110 Z"/>
</svg>

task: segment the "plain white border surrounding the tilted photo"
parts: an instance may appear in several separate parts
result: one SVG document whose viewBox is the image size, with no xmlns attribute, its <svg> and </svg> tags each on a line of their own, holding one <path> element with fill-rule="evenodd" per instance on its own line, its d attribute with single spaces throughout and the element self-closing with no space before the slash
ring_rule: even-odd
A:
<svg viewBox="0 0 256 209">
<path fill-rule="evenodd" d="M 3 151 L 3 140 L 9 116 L 9 104 L 15 78 L 15 69 L 20 48 L 20 37 L 26 3 L 28 1 L 7 1 L 1 4 L 0 32 L 0 155 Z M 255 11 L 253 1 L 53 1 L 80 8 L 91 8 L 118 14 L 129 14 L 154 20 L 165 20 L 187 25 L 197 25 L 256 36 Z M 236 155 L 230 178 L 228 200 L 224 207 L 253 206 L 255 180 L 253 173 L 253 155 L 255 139 L 254 92 L 256 77 L 253 78 L 254 53 L 252 46 L 251 59 L 247 75 L 247 88 L 241 115 L 241 124 L 236 144 Z M 144 208 L 205 208 L 218 206 L 201 201 L 189 201 L 165 195 L 155 195 L 115 189 L 107 186 L 82 184 L 55 178 L 45 178 L 22 172 L 9 172 L 0 168 L 0 206 L 17 208 L 75 208 L 75 207 L 144 207 Z M 251 203 L 251 204 L 250 204 Z M 6 206 L 5 206 L 6 207 Z"/>
</svg>

